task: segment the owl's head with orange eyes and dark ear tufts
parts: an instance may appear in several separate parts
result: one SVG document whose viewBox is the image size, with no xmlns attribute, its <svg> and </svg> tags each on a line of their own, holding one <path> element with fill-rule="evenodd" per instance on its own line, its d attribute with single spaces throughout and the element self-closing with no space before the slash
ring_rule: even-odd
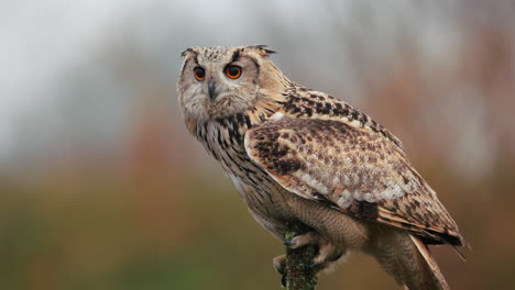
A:
<svg viewBox="0 0 515 290">
<path fill-rule="evenodd" d="M 187 122 L 206 122 L 251 109 L 281 93 L 286 78 L 264 45 L 193 47 L 182 56 L 178 99 Z"/>
</svg>

